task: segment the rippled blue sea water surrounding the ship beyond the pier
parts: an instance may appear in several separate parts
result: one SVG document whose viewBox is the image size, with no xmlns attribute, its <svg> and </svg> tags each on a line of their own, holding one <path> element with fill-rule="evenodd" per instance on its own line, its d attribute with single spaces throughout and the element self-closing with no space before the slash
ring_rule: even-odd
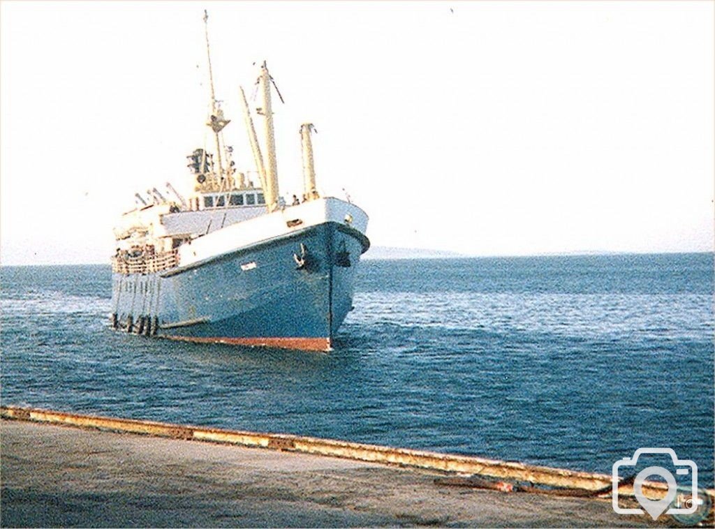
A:
<svg viewBox="0 0 715 529">
<path fill-rule="evenodd" d="M 712 254 L 366 261 L 329 355 L 108 327 L 109 267 L 3 267 L 3 404 L 610 472 L 668 446 L 712 486 Z"/>
</svg>

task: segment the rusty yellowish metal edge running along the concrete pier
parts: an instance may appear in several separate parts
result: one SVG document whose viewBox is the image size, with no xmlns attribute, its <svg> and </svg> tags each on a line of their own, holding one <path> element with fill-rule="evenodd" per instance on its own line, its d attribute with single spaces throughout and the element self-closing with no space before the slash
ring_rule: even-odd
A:
<svg viewBox="0 0 715 529">
<path fill-rule="evenodd" d="M 0 406 L 0 417 L 4 419 L 44 422 L 55 425 L 67 425 L 82 428 L 109 430 L 170 437 L 181 440 L 198 440 L 244 447 L 267 448 L 269 450 L 290 450 L 292 452 L 347 458 L 373 463 L 387 463 L 414 468 L 440 470 L 448 473 L 488 476 L 530 482 L 552 487 L 597 490 L 611 484 L 611 475 L 580 472 L 561 468 L 526 465 L 512 461 L 490 460 L 468 455 L 453 455 L 411 450 L 408 448 L 390 448 L 380 445 L 365 445 L 347 441 L 320 439 L 301 435 L 242 432 L 220 430 L 217 428 L 174 425 L 148 420 L 118 419 L 77 413 L 40 410 L 29 407 Z M 663 498 L 667 485 L 646 482 L 644 493 L 651 498 Z M 715 490 L 706 491 L 715 498 Z M 620 495 L 633 495 L 633 486 L 625 485 L 619 490 Z M 604 496 L 608 496 L 606 493 Z"/>
</svg>

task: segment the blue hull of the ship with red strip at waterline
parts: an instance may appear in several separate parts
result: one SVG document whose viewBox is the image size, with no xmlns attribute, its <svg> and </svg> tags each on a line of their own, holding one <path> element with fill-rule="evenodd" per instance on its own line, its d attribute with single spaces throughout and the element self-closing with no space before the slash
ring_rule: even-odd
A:
<svg viewBox="0 0 715 529">
<path fill-rule="evenodd" d="M 368 245 L 326 222 L 189 267 L 115 273 L 112 321 L 179 340 L 329 350 Z"/>
</svg>

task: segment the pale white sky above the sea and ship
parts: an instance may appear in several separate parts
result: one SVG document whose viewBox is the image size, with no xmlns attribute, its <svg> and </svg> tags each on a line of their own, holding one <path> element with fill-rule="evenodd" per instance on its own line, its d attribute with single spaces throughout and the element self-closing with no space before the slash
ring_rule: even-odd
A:
<svg viewBox="0 0 715 529">
<path fill-rule="evenodd" d="M 189 184 L 209 11 L 217 97 L 267 60 L 281 193 L 370 216 L 375 246 L 474 255 L 713 250 L 710 1 L 0 2 L 0 259 L 108 262 L 134 193 Z"/>
</svg>

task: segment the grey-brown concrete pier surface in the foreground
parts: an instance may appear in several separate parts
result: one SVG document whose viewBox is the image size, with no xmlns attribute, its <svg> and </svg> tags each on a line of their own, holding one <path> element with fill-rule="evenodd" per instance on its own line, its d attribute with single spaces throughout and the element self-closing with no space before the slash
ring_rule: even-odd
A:
<svg viewBox="0 0 715 529">
<path fill-rule="evenodd" d="M 435 485 L 321 455 L 2 420 L 1 525 L 645 526 L 610 500 Z"/>
</svg>

